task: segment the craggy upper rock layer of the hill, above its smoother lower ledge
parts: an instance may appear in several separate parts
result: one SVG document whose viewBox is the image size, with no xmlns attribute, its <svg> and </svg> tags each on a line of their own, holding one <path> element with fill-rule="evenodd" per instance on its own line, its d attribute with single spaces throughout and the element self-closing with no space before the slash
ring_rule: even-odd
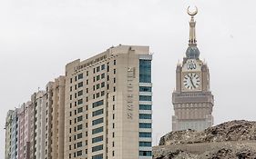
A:
<svg viewBox="0 0 256 159">
<path fill-rule="evenodd" d="M 256 122 L 231 121 L 210 127 L 203 132 L 194 130 L 171 132 L 161 137 L 159 145 L 242 140 L 256 140 Z"/>
</svg>

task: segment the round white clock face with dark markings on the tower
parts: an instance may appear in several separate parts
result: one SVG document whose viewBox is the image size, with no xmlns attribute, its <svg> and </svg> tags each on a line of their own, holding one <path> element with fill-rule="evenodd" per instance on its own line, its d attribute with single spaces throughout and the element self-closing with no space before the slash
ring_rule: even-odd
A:
<svg viewBox="0 0 256 159">
<path fill-rule="evenodd" d="M 200 75 L 196 73 L 189 73 L 184 76 L 183 84 L 186 89 L 194 90 L 200 86 Z"/>
</svg>

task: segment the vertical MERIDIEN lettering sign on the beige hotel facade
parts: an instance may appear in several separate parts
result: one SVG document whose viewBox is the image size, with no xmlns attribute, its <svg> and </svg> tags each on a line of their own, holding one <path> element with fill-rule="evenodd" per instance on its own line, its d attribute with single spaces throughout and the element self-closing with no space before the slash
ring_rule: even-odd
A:
<svg viewBox="0 0 256 159">
<path fill-rule="evenodd" d="M 133 119 L 134 104 L 133 104 L 133 82 L 135 78 L 135 67 L 128 67 L 128 104 L 127 117 Z"/>
</svg>

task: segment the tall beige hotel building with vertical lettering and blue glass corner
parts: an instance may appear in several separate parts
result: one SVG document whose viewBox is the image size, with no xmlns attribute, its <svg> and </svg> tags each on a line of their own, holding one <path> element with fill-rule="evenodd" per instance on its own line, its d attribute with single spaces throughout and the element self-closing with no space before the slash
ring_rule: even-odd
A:
<svg viewBox="0 0 256 159">
<path fill-rule="evenodd" d="M 65 159 L 152 158 L 151 60 L 118 45 L 67 64 Z"/>
</svg>

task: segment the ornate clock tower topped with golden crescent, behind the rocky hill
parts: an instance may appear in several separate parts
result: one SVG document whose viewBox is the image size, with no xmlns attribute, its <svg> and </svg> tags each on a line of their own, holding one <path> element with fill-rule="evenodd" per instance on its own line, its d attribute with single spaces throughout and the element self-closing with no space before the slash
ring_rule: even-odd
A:
<svg viewBox="0 0 256 159">
<path fill-rule="evenodd" d="M 196 40 L 194 15 L 198 9 L 188 14 L 189 47 L 186 57 L 176 68 L 176 89 L 172 94 L 175 114 L 172 116 L 172 130 L 204 130 L 213 124 L 213 95 L 210 92 L 210 73 L 208 65 L 200 60 L 200 50 Z"/>
</svg>

